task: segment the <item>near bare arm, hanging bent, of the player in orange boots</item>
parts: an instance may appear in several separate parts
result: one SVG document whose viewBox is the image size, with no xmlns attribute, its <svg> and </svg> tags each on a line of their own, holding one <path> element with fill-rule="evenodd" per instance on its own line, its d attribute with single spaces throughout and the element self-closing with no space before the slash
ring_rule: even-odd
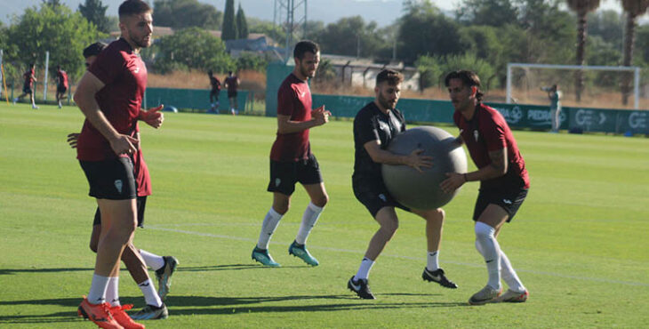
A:
<svg viewBox="0 0 649 329">
<path fill-rule="evenodd" d="M 110 147 L 113 148 L 116 154 L 135 152 L 137 148 L 133 146 L 133 143 L 137 140 L 131 136 L 117 132 L 113 125 L 108 122 L 103 112 L 101 112 L 97 100 L 94 99 L 94 95 L 103 87 L 104 84 L 97 76 L 94 76 L 90 72 L 85 72 L 76 87 L 74 96 L 76 105 L 81 109 L 81 112 L 84 113 L 84 116 L 90 121 L 92 126 L 110 142 Z"/>
</svg>

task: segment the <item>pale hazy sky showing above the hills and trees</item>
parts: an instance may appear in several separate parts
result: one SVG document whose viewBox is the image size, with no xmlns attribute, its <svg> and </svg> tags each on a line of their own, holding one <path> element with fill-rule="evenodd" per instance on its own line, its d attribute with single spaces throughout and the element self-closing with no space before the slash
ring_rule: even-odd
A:
<svg viewBox="0 0 649 329">
<path fill-rule="evenodd" d="M 123 0 L 101 0 L 108 4 L 108 15 L 116 16 L 117 7 Z M 223 12 L 226 0 L 198 0 L 204 4 L 212 4 Z M 285 0 L 284 0 L 285 1 Z M 61 0 L 63 4 L 76 10 L 84 0 Z M 362 16 L 366 21 L 374 20 L 380 26 L 389 25 L 402 10 L 403 0 L 307 0 L 308 20 L 322 20 L 331 23 L 341 17 L 354 15 Z M 451 11 L 461 0 L 432 0 L 437 7 Z M 0 20 L 9 22 L 12 14 L 20 14 L 25 8 L 41 4 L 41 0 L 0 0 Z M 275 0 L 235 0 L 235 5 L 241 4 L 246 16 L 261 20 L 273 20 Z M 602 0 L 601 9 L 621 11 L 619 0 Z"/>
</svg>

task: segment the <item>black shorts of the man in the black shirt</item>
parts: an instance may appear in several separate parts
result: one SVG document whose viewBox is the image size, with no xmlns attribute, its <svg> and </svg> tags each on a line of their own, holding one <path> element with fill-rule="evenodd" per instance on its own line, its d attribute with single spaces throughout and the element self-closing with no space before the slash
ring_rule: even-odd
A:
<svg viewBox="0 0 649 329">
<path fill-rule="evenodd" d="M 354 196 L 361 204 L 365 205 L 373 218 L 376 218 L 376 213 L 379 213 L 383 207 L 397 207 L 410 212 L 410 208 L 399 204 L 389 194 L 385 184 L 379 178 L 352 178 L 351 186 L 354 189 Z"/>
</svg>

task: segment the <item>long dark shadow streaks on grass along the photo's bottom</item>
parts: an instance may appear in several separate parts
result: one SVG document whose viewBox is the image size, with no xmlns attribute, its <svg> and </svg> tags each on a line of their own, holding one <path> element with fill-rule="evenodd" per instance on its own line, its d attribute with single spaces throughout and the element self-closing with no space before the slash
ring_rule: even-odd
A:
<svg viewBox="0 0 649 329">
<path fill-rule="evenodd" d="M 425 293 L 385 293 L 381 296 L 430 296 Z M 121 298 L 124 304 L 141 302 L 141 297 Z M 253 305 L 282 301 L 299 301 L 300 305 Z M 324 301 L 324 302 L 323 302 Z M 329 302 L 326 302 L 329 301 Z M 29 301 L 0 301 L 0 306 L 7 305 L 57 305 L 69 307 L 69 312 L 57 312 L 45 315 L 0 316 L 0 324 L 31 324 L 75 322 L 76 307 L 81 298 L 63 298 Z M 316 303 L 313 303 L 316 302 Z M 462 302 L 384 302 L 363 301 L 351 294 L 345 295 L 302 295 L 276 297 L 205 297 L 205 296 L 169 296 L 165 301 L 170 305 L 170 316 L 188 315 L 235 315 L 242 313 L 277 313 L 277 312 L 331 312 L 360 309 L 431 309 L 469 306 Z"/>
</svg>

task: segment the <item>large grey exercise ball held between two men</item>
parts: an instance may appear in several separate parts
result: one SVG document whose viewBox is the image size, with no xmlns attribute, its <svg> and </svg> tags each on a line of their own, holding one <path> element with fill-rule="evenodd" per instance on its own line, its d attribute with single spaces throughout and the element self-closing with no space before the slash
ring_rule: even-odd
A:
<svg viewBox="0 0 649 329">
<path fill-rule="evenodd" d="M 408 165 L 383 164 L 386 188 L 399 203 L 414 209 L 435 209 L 448 204 L 458 190 L 446 194 L 439 184 L 445 173 L 467 173 L 467 155 L 453 135 L 442 129 L 421 126 L 399 133 L 388 145 L 398 155 L 409 155 L 423 149 L 423 156 L 432 156 L 433 165 L 418 172 Z"/>
</svg>

